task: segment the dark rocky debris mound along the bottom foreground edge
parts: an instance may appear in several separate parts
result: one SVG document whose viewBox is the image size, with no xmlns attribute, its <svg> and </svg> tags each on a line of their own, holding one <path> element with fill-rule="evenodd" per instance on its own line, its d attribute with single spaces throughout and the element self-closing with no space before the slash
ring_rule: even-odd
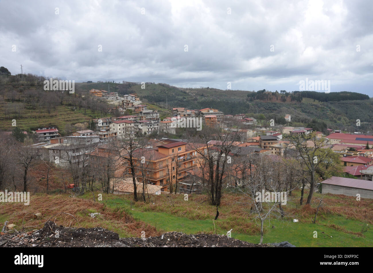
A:
<svg viewBox="0 0 373 273">
<path fill-rule="evenodd" d="M 286 244 L 284 244 L 286 243 Z M 119 238 L 104 228 L 68 228 L 48 221 L 42 229 L 2 232 L 1 247 L 289 247 L 288 242 L 252 244 L 225 235 L 167 232 L 148 238 Z M 292 246 L 292 245 L 291 245 Z M 294 246 L 292 246 L 294 247 Z"/>
</svg>

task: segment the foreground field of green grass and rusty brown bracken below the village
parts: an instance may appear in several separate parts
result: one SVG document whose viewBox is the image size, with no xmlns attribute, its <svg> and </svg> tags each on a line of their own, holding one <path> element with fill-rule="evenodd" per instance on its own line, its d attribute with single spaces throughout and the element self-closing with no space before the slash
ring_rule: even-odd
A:
<svg viewBox="0 0 373 273">
<path fill-rule="evenodd" d="M 96 200 L 97 194 L 98 192 L 95 193 Z M 298 194 L 295 193 L 295 197 Z M 265 221 L 263 242 L 289 241 L 297 247 L 373 246 L 373 231 L 370 229 L 372 200 L 356 201 L 353 197 L 325 195 L 325 204 L 319 210 L 316 223 L 313 223 L 318 197 L 320 195 L 315 194 L 311 207 L 299 208 L 288 201 L 285 211 L 289 217 Z M 42 225 L 53 216 L 53 220 L 56 219 L 59 225 L 87 228 L 101 226 L 117 232 L 120 237 L 140 237 L 142 230 L 148 237 L 168 231 L 226 234 L 233 229 L 233 238 L 259 242 L 260 222 L 255 222 L 248 216 L 247 208 L 237 203 L 241 200 L 240 196 L 223 196 L 216 221 L 213 221 L 216 207 L 210 206 L 208 201 L 203 202 L 206 198 L 204 195 L 192 195 L 188 201 L 184 201 L 183 195 L 162 195 L 151 196 L 150 203 L 135 203 L 132 195 L 103 194 L 103 201 L 93 201 L 92 193 L 75 198 L 68 197 L 68 194 L 35 194 L 32 195 L 29 206 L 0 203 L 0 222 L 9 220 L 20 228 L 23 224 Z M 26 215 L 36 212 L 41 212 L 45 219 L 36 220 L 32 215 Z M 78 223 L 69 215 L 54 216 L 58 212 L 71 213 Z M 92 212 L 99 212 L 101 215 L 91 218 L 88 214 Z M 299 219 L 299 222 L 292 222 L 293 218 Z M 317 238 L 314 238 L 315 231 Z"/>
</svg>

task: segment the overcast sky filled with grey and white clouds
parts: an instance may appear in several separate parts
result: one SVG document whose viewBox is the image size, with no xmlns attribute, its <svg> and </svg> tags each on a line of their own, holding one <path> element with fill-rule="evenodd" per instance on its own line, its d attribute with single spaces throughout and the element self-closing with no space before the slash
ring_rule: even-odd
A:
<svg viewBox="0 0 373 273">
<path fill-rule="evenodd" d="M 0 0 L 0 66 L 82 82 L 373 96 L 373 2 Z"/>
</svg>

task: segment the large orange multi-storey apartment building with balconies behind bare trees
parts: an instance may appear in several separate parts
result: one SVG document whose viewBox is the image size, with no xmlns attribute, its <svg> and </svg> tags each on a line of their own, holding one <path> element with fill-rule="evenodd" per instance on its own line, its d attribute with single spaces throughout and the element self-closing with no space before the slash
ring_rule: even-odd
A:
<svg viewBox="0 0 373 273">
<path fill-rule="evenodd" d="M 189 144 L 185 142 L 171 142 L 155 149 L 141 149 L 134 155 L 137 180 L 142 183 L 141 166 L 146 169 L 145 180 L 148 184 L 162 186 L 161 191 L 169 191 L 169 178 L 172 184 L 186 177 L 191 169 L 200 166 L 198 153 L 195 149 L 205 149 L 203 144 Z M 145 163 L 140 164 L 144 156 Z M 177 174 L 176 174 L 177 172 Z"/>
</svg>

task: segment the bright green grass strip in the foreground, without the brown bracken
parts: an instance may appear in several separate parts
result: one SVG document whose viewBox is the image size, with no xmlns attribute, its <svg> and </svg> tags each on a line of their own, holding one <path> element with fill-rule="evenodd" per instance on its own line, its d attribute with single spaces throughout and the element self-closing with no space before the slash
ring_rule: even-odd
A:
<svg viewBox="0 0 373 273">
<path fill-rule="evenodd" d="M 109 197 L 109 196 L 108 196 Z M 154 212 L 148 211 L 147 205 L 143 205 L 141 202 L 134 204 L 131 201 L 132 196 L 125 196 L 123 198 L 111 198 L 105 201 L 109 207 L 125 208 L 130 210 L 132 202 L 132 216 L 136 219 L 150 223 L 156 228 L 168 231 L 179 231 L 187 234 L 196 234 L 200 232 L 213 233 L 214 224 L 213 218 L 211 219 L 190 219 L 188 217 L 181 217 L 173 213 L 168 212 Z M 326 198 L 335 198 L 335 196 L 326 196 Z M 190 199 L 189 199 L 190 200 Z M 159 204 L 159 203 L 158 203 Z M 194 204 L 190 203 L 192 206 Z M 160 204 L 159 204 L 160 205 Z M 178 204 L 175 203 L 177 207 Z M 207 205 L 207 207 L 211 207 Z M 215 221 L 216 233 L 226 234 L 230 228 L 220 228 L 221 226 L 233 227 L 232 237 L 241 239 L 243 241 L 258 243 L 260 235 L 258 232 L 255 234 L 239 233 L 235 230 L 234 226 L 238 222 L 249 222 L 247 219 L 232 219 L 226 217 L 229 214 L 229 207 L 221 207 L 219 209 L 220 216 Z M 323 217 L 324 218 L 324 217 Z M 264 222 L 264 243 L 270 242 L 282 242 L 288 241 L 297 247 L 372 247 L 373 246 L 373 232 L 370 230 L 370 225 L 367 223 L 345 219 L 342 216 L 329 215 L 326 219 L 318 217 L 316 224 L 305 223 L 300 220 L 298 223 L 293 223 L 291 219 L 288 220 L 277 220 L 273 219 L 270 222 L 266 220 Z M 252 222 L 255 229 L 258 230 L 260 227 L 260 221 Z M 329 227 L 329 225 L 336 225 L 343 228 L 343 231 L 338 231 L 335 228 Z M 272 228 L 272 226 L 274 226 Z M 231 227 L 231 228 L 232 228 Z M 364 236 L 359 237 L 358 235 L 351 233 L 360 233 L 362 228 Z M 314 238 L 314 231 L 317 231 L 317 238 Z M 350 232 L 350 233 L 349 233 Z"/>
</svg>

